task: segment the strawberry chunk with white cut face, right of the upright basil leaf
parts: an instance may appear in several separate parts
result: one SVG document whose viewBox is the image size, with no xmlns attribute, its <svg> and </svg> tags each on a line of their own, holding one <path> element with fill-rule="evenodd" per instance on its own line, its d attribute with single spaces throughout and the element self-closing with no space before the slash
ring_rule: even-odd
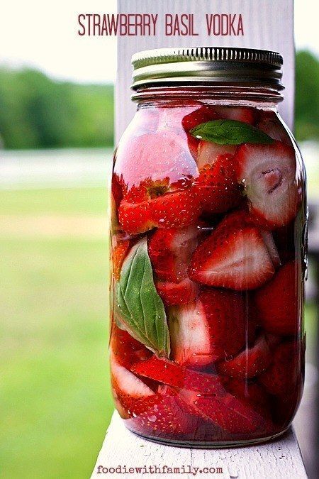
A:
<svg viewBox="0 0 319 479">
<path fill-rule="evenodd" d="M 172 358 L 201 367 L 236 354 L 245 344 L 245 304 L 240 293 L 205 289 L 198 300 L 169 309 Z"/>
</svg>

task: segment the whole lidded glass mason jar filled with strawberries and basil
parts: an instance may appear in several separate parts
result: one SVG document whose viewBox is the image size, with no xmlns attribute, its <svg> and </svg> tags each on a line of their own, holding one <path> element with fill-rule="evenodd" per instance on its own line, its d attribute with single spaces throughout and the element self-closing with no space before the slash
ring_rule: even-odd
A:
<svg viewBox="0 0 319 479">
<path fill-rule="evenodd" d="M 140 436 L 283 433 L 301 399 L 305 170 L 277 111 L 280 55 L 133 57 L 138 111 L 112 179 L 111 381 Z"/>
</svg>

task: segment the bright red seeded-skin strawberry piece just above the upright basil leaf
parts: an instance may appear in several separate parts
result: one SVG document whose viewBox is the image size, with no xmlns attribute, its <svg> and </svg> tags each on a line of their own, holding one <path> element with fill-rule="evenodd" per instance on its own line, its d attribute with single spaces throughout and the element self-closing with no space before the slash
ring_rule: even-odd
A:
<svg viewBox="0 0 319 479">
<path fill-rule="evenodd" d="M 122 200 L 118 219 L 124 231 L 144 233 L 152 228 L 174 228 L 194 223 L 201 211 L 194 187 L 167 194 L 155 199 L 133 203 Z"/>
</svg>

